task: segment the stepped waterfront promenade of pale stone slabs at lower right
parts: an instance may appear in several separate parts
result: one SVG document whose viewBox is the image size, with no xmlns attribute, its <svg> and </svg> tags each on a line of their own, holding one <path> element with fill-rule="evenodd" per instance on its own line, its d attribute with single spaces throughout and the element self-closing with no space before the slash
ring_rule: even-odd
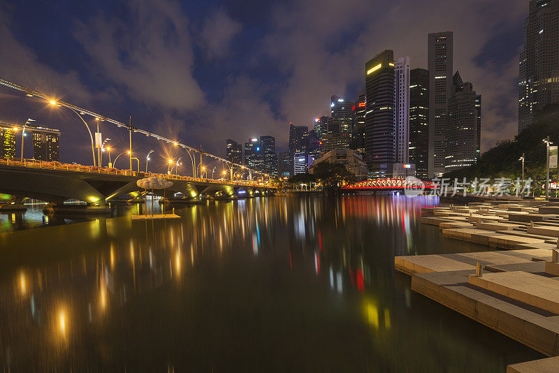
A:
<svg viewBox="0 0 559 373">
<path fill-rule="evenodd" d="M 421 223 L 492 251 L 396 256 L 395 270 L 412 276 L 412 290 L 553 357 L 507 372 L 558 372 L 559 203 L 424 207 Z"/>
</svg>

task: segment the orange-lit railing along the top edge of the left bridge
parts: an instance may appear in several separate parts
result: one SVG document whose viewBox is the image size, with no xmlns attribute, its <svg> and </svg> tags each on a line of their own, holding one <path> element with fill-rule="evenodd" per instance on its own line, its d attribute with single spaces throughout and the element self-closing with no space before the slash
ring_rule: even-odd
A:
<svg viewBox="0 0 559 373">
<path fill-rule="evenodd" d="M 272 183 L 263 182 L 249 182 L 240 180 L 213 180 L 201 177 L 188 177 L 182 175 L 172 175 L 172 174 L 159 174 L 159 173 L 144 173 L 133 170 L 119 170 L 118 168 L 107 168 L 107 167 L 97 167 L 97 166 L 83 166 L 76 163 L 61 163 L 57 161 L 41 161 L 38 159 L 0 159 L 0 165 L 6 166 L 19 166 L 26 168 L 40 168 L 45 170 L 64 170 L 73 171 L 79 173 L 95 173 L 101 175 L 122 175 L 122 176 L 136 176 L 136 177 L 159 177 L 160 179 L 166 180 L 181 180 L 190 182 L 207 182 L 213 184 L 227 184 L 227 185 L 238 185 L 238 186 L 274 186 Z"/>
</svg>

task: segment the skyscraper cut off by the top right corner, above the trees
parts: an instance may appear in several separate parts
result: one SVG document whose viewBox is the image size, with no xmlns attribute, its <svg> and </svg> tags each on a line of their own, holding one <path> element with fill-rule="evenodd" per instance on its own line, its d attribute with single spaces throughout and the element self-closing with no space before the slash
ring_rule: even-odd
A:
<svg viewBox="0 0 559 373">
<path fill-rule="evenodd" d="M 559 103 L 559 0 L 530 0 L 518 65 L 518 133 L 534 115 Z"/>
</svg>

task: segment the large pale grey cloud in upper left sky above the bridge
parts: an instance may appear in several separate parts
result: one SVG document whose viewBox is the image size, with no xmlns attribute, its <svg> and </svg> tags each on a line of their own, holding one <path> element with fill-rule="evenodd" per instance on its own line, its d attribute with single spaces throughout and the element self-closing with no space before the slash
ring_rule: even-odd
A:
<svg viewBox="0 0 559 373">
<path fill-rule="evenodd" d="M 192 75 L 189 20 L 171 0 L 129 1 L 126 21 L 104 14 L 77 22 L 75 38 L 113 82 L 150 106 L 194 110 L 204 94 Z"/>
</svg>

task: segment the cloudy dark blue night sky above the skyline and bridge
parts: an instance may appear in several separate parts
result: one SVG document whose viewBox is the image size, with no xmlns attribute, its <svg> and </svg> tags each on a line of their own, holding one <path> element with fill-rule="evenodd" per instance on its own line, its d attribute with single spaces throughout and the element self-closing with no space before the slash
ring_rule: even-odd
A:
<svg viewBox="0 0 559 373">
<path fill-rule="evenodd" d="M 0 78 L 221 156 L 226 138 L 271 135 L 280 151 L 289 122 L 356 99 L 365 61 L 393 49 L 427 68 L 427 34 L 451 29 L 454 70 L 482 95 L 484 152 L 516 134 L 527 15 L 527 0 L 0 1 Z M 28 117 L 61 130 L 61 161 L 92 162 L 75 114 L 1 88 L 0 120 Z M 101 131 L 127 149 L 126 132 Z"/>
</svg>

